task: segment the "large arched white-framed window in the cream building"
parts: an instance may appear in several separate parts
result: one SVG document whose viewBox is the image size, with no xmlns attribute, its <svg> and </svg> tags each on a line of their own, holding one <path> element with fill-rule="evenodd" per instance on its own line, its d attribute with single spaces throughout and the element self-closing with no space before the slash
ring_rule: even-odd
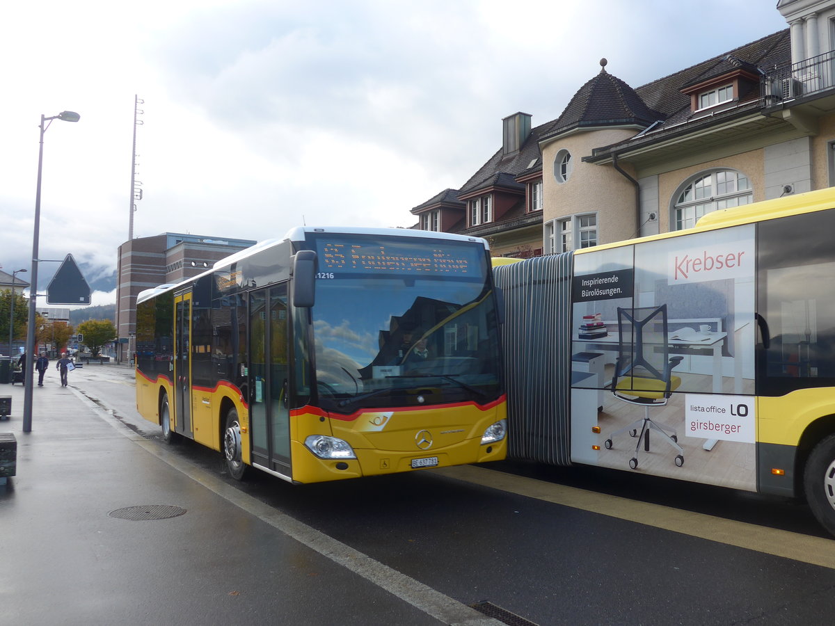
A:
<svg viewBox="0 0 835 626">
<path fill-rule="evenodd" d="M 676 230 L 691 228 L 702 215 L 751 204 L 754 193 L 745 174 L 733 169 L 701 173 L 681 191 L 673 207 Z"/>
</svg>

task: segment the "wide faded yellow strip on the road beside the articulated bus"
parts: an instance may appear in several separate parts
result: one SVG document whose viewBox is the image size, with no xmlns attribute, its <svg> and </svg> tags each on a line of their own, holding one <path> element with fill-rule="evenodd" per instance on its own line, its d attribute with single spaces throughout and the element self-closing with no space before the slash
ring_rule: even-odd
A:
<svg viewBox="0 0 835 626">
<path fill-rule="evenodd" d="M 554 502 L 554 504 L 617 517 L 645 524 L 645 526 L 663 528 L 691 537 L 835 569 L 835 549 L 832 549 L 835 548 L 835 543 L 832 543 L 832 539 L 809 537 L 800 533 L 736 522 L 704 513 L 682 511 L 650 502 L 638 502 L 577 487 L 565 487 L 552 482 L 495 472 L 473 465 L 442 467 L 429 471 L 483 487 L 493 487 L 520 496 L 534 497 L 544 502 Z"/>
</svg>

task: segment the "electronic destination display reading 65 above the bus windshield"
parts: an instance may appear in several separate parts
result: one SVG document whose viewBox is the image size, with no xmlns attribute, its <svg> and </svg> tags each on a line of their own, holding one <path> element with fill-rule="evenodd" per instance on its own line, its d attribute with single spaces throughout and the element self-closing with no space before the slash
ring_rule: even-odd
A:
<svg viewBox="0 0 835 626">
<path fill-rule="evenodd" d="M 437 247 L 392 241 L 373 243 L 357 240 L 316 242 L 319 270 L 335 274 L 478 275 L 483 248 L 478 245 Z"/>
</svg>

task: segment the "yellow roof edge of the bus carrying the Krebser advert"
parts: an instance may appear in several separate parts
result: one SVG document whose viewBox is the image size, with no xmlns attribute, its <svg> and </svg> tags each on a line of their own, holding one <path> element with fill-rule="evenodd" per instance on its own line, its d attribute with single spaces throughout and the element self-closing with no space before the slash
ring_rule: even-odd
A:
<svg viewBox="0 0 835 626">
<path fill-rule="evenodd" d="M 677 237 L 686 233 L 698 233 L 706 230 L 717 230 L 729 226 L 753 224 L 763 220 L 775 220 L 788 215 L 812 213 L 835 208 L 835 188 L 807 191 L 805 194 L 792 194 L 771 200 L 762 200 L 753 204 L 744 204 L 733 209 L 712 211 L 699 220 L 693 228 L 686 230 L 671 230 L 658 235 L 647 235 L 635 239 L 615 241 L 611 244 L 595 245 L 591 248 L 574 250 L 575 255 L 582 255 L 596 250 L 617 248 L 621 245 L 632 245 L 644 241 L 653 241 Z"/>
</svg>

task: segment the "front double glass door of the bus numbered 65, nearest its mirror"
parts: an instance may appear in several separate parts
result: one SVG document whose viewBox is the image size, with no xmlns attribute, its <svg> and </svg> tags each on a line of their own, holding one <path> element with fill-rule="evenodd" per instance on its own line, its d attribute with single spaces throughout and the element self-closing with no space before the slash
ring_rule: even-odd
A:
<svg viewBox="0 0 835 626">
<path fill-rule="evenodd" d="M 291 477 L 287 285 L 250 295 L 252 462 Z"/>
</svg>

